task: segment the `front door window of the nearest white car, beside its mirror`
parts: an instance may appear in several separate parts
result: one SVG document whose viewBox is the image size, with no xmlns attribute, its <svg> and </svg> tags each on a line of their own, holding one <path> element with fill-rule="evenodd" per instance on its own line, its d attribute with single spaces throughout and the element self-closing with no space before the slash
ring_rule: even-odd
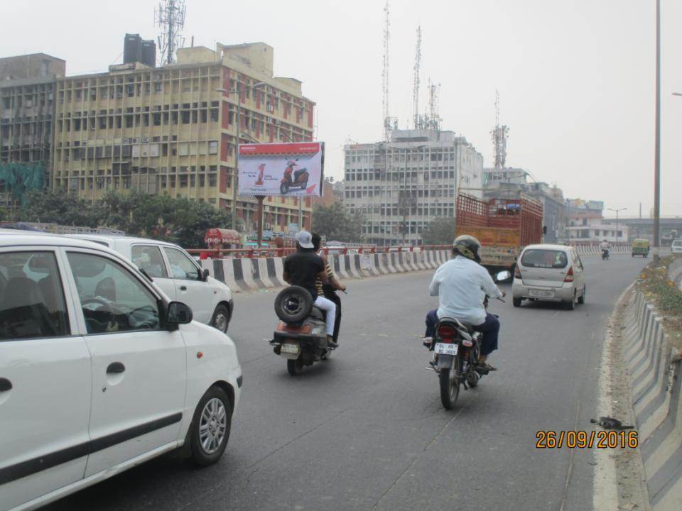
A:
<svg viewBox="0 0 682 511">
<path fill-rule="evenodd" d="M 68 259 L 88 334 L 159 328 L 156 297 L 124 266 L 90 253 Z"/>
</svg>

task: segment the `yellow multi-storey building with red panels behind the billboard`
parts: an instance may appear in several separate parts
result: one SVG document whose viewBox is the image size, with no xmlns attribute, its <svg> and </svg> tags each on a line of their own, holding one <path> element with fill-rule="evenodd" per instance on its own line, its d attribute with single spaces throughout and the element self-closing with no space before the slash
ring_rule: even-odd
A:
<svg viewBox="0 0 682 511">
<path fill-rule="evenodd" d="M 230 208 L 237 101 L 240 143 L 313 140 L 315 103 L 298 80 L 273 76 L 271 46 L 183 48 L 177 60 L 58 79 L 55 189 L 92 201 L 108 190 L 137 189 Z M 237 90 L 239 97 L 229 92 Z M 269 197 L 264 204 L 265 229 L 298 223 L 298 199 Z M 309 202 L 303 214 L 309 226 Z M 255 229 L 255 199 L 237 201 L 237 219 L 241 229 Z"/>
</svg>

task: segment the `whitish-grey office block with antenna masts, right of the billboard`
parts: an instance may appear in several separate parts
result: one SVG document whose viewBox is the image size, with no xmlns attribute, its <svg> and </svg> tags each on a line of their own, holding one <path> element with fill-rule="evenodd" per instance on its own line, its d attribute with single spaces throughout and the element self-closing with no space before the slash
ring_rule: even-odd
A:
<svg viewBox="0 0 682 511">
<path fill-rule="evenodd" d="M 344 204 L 364 216 L 369 243 L 419 245 L 431 221 L 455 216 L 460 189 L 480 195 L 483 157 L 452 131 L 394 130 L 388 143 L 344 151 Z"/>
</svg>

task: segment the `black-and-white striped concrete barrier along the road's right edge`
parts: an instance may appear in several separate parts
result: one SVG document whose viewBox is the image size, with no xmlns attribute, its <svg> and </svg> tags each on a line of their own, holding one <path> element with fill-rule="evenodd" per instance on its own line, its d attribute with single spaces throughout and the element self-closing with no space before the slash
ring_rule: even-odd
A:
<svg viewBox="0 0 682 511">
<path fill-rule="evenodd" d="M 681 509 L 682 368 L 656 309 L 637 291 L 624 325 L 632 407 L 651 509 Z"/>
</svg>

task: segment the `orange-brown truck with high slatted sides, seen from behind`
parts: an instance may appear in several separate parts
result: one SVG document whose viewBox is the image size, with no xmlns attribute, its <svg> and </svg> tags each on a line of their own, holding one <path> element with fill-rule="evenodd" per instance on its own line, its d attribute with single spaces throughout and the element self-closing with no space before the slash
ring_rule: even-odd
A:
<svg viewBox="0 0 682 511">
<path fill-rule="evenodd" d="M 514 273 L 526 245 L 542 242 L 542 203 L 521 194 L 514 199 L 457 196 L 455 237 L 468 234 L 481 242 L 481 264 L 490 273 Z"/>
</svg>

